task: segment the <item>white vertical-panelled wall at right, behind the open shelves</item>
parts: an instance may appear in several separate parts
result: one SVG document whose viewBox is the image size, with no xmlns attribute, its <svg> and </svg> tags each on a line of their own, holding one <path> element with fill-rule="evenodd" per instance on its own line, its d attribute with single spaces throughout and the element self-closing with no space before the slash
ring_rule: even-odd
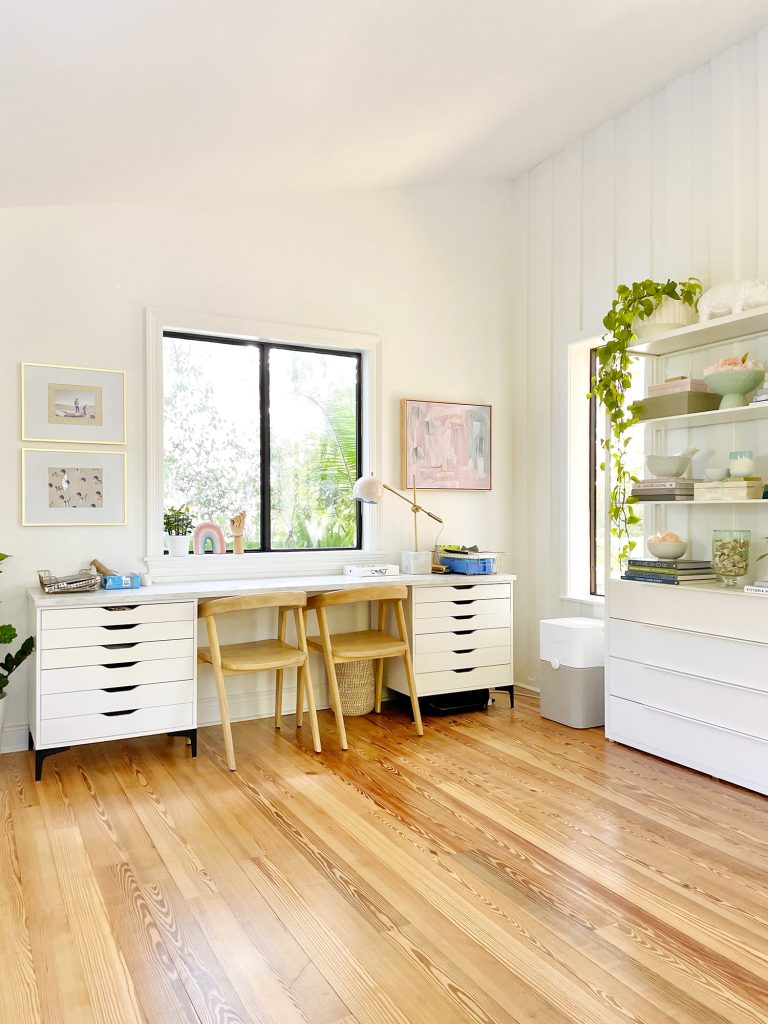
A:
<svg viewBox="0 0 768 1024">
<path fill-rule="evenodd" d="M 513 220 L 515 653 L 525 683 L 539 620 L 593 610 L 563 598 L 568 345 L 602 332 L 620 282 L 768 278 L 768 29 L 518 177 Z"/>
</svg>

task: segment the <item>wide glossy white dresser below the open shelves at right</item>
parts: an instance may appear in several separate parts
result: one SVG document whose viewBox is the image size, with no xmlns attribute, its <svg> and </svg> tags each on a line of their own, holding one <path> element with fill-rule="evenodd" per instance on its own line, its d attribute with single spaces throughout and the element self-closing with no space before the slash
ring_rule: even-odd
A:
<svg viewBox="0 0 768 1024">
<path fill-rule="evenodd" d="M 768 794 L 768 599 L 609 584 L 605 735 Z"/>
</svg>

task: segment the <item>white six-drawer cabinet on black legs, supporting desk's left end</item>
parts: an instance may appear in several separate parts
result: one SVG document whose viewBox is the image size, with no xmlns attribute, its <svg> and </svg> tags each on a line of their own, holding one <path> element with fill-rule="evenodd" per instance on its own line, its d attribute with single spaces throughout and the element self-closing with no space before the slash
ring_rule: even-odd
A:
<svg viewBox="0 0 768 1024">
<path fill-rule="evenodd" d="M 30 688 L 35 777 L 43 759 L 77 743 L 158 732 L 197 745 L 195 601 L 34 609 Z"/>
</svg>

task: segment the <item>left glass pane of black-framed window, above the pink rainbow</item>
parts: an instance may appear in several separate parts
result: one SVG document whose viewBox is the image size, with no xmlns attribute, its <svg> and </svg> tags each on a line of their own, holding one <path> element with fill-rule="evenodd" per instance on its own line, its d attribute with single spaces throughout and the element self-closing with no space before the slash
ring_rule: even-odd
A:
<svg viewBox="0 0 768 1024">
<path fill-rule="evenodd" d="M 259 349 L 164 338 L 165 505 L 196 522 L 245 509 L 246 548 L 259 547 Z M 229 540 L 229 547 L 231 541 Z"/>
</svg>

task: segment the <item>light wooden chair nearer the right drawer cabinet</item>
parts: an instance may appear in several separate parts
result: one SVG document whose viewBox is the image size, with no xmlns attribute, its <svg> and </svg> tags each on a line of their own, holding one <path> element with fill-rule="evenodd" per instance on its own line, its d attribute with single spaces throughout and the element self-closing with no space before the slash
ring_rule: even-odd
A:
<svg viewBox="0 0 768 1024">
<path fill-rule="evenodd" d="M 416 693 L 414 666 L 411 659 L 411 648 L 409 647 L 408 631 L 406 629 L 406 614 L 402 610 L 402 602 L 407 595 L 408 589 L 401 584 L 391 584 L 389 586 L 357 587 L 353 590 L 337 590 L 330 594 L 317 594 L 314 597 L 310 597 L 306 603 L 307 612 L 317 612 L 317 625 L 321 631 L 318 637 L 309 637 L 307 644 L 314 650 L 323 651 L 323 657 L 326 663 L 326 674 L 328 675 L 328 685 L 331 691 L 331 702 L 336 715 L 336 726 L 339 731 L 339 738 L 341 739 L 341 749 L 344 751 L 347 750 L 347 734 L 344 728 L 341 700 L 339 699 L 339 681 L 336 677 L 336 666 L 342 662 L 376 662 L 375 710 L 378 714 L 381 711 L 384 660 L 387 657 L 401 657 L 406 667 L 406 678 L 411 694 L 411 707 L 414 712 L 416 731 L 420 736 L 424 735 L 419 698 Z M 379 602 L 378 630 L 358 630 L 355 633 L 332 634 L 328 628 L 326 608 L 335 607 L 339 604 L 358 604 L 362 601 Z M 396 637 L 385 632 L 387 607 L 390 604 L 394 607 L 395 623 L 397 626 Z M 304 614 L 306 616 L 306 612 Z M 297 712 L 297 714 L 300 720 L 301 713 Z"/>
</svg>

